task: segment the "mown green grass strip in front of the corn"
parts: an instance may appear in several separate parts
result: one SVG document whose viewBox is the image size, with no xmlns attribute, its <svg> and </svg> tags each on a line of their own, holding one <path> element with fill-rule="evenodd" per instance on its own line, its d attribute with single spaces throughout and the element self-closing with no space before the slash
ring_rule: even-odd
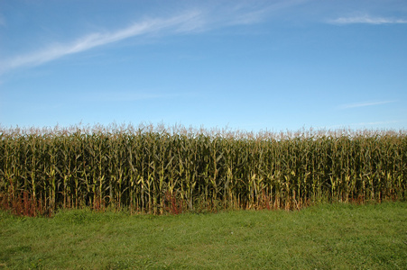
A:
<svg viewBox="0 0 407 270">
<path fill-rule="evenodd" d="M 177 216 L 0 211 L 0 268 L 405 269 L 407 202 Z"/>
</svg>

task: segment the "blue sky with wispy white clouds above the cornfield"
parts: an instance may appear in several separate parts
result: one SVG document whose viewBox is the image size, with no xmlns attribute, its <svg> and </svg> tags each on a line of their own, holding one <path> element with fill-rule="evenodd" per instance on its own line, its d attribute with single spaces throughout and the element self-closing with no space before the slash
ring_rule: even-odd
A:
<svg viewBox="0 0 407 270">
<path fill-rule="evenodd" d="M 405 0 L 1 0 L 0 124 L 407 127 Z"/>
</svg>

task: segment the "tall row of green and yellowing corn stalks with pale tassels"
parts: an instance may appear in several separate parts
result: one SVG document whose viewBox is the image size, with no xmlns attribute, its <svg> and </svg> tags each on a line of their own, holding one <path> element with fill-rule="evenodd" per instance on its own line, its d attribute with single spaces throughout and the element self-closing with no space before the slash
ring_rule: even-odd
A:
<svg viewBox="0 0 407 270">
<path fill-rule="evenodd" d="M 0 203 L 134 212 L 405 200 L 406 132 L 0 128 Z"/>
</svg>

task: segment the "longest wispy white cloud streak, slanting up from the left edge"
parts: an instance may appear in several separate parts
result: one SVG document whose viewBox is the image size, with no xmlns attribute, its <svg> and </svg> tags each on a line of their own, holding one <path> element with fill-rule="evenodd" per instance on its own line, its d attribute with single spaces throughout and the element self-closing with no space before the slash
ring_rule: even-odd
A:
<svg viewBox="0 0 407 270">
<path fill-rule="evenodd" d="M 251 1 L 235 5 L 222 5 L 217 10 L 212 8 L 195 8 L 169 18 L 146 19 L 116 31 L 94 32 L 67 43 L 53 43 L 32 53 L 13 58 L 0 59 L 0 74 L 18 67 L 35 67 L 67 55 L 86 51 L 120 40 L 142 35 L 186 34 L 208 31 L 222 26 L 253 24 L 261 22 L 267 14 L 305 0 L 277 1 L 273 4 L 257 4 Z M 2 17 L 0 16 L 0 24 Z"/>
</svg>

